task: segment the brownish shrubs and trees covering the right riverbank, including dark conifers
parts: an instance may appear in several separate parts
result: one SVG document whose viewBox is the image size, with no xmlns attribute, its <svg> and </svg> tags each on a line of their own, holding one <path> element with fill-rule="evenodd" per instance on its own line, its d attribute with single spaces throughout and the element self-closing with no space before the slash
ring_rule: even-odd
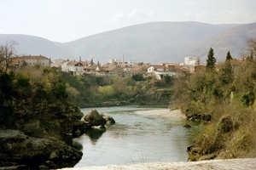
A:
<svg viewBox="0 0 256 170">
<path fill-rule="evenodd" d="M 216 64 L 211 48 L 207 68 L 174 83 L 172 107 L 190 120 L 207 122 L 189 147 L 189 160 L 256 156 L 256 39 L 247 42 L 241 62 L 227 53 Z"/>
</svg>

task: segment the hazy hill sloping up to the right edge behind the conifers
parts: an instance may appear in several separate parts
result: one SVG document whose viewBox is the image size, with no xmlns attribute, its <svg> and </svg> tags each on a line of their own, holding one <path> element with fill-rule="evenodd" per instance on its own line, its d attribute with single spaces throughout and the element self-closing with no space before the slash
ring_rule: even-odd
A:
<svg viewBox="0 0 256 170">
<path fill-rule="evenodd" d="M 223 61 L 229 50 L 233 58 L 241 59 L 241 52 L 251 37 L 256 37 L 256 22 L 222 31 L 191 48 L 184 55 L 198 56 L 201 61 L 206 61 L 209 48 L 212 47 L 217 61 Z"/>
</svg>

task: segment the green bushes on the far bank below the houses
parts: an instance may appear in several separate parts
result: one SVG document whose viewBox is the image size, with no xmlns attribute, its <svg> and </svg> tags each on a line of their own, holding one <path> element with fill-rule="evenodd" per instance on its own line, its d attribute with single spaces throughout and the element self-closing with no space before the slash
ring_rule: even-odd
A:
<svg viewBox="0 0 256 170">
<path fill-rule="evenodd" d="M 80 107 L 110 105 L 169 104 L 172 77 L 158 81 L 154 77 L 72 76 L 61 72 L 67 87 L 67 99 Z"/>
</svg>

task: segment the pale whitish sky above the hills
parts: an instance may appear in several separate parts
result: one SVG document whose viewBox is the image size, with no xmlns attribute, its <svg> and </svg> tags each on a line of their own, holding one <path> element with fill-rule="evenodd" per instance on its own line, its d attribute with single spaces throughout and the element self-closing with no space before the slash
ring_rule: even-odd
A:
<svg viewBox="0 0 256 170">
<path fill-rule="evenodd" d="M 159 21 L 256 22 L 256 0 L 0 0 L 0 34 L 70 42 Z"/>
</svg>

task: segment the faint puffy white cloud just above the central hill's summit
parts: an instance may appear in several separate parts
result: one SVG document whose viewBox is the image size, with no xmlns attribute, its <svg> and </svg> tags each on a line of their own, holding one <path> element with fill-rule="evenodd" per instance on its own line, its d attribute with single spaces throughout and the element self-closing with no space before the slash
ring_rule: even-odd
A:
<svg viewBox="0 0 256 170">
<path fill-rule="evenodd" d="M 160 19 L 160 15 L 154 11 L 149 13 L 144 12 L 141 9 L 135 9 L 131 13 L 119 13 L 107 20 L 107 23 L 143 23 L 157 21 Z"/>
</svg>

